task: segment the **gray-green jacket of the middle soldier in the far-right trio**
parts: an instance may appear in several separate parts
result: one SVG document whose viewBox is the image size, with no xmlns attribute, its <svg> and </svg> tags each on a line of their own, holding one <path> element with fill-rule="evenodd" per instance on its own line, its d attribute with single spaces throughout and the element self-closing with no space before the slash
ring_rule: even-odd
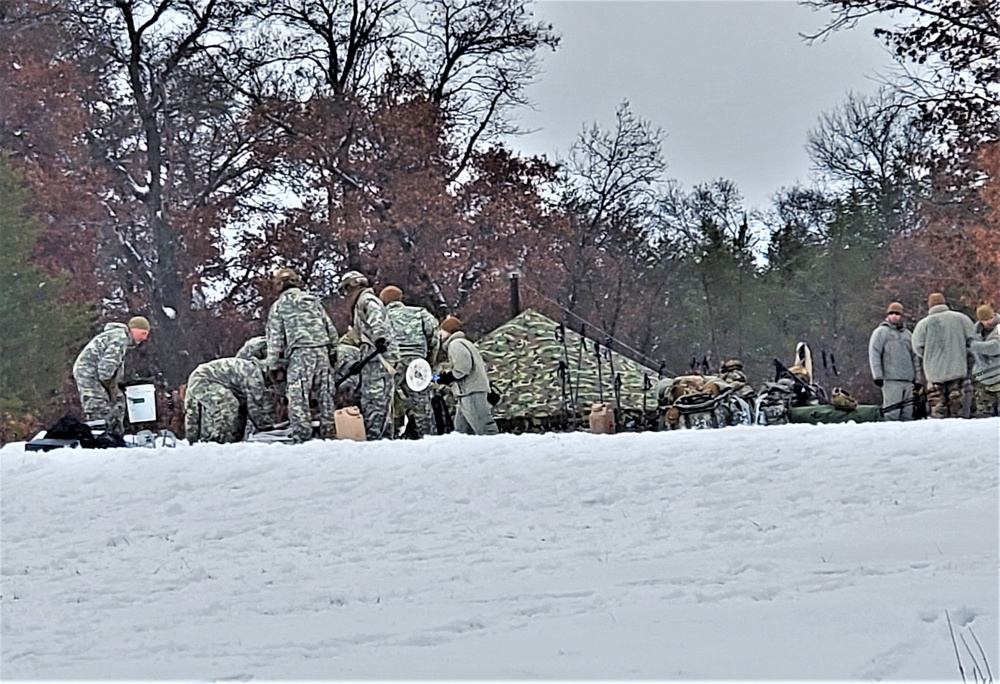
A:
<svg viewBox="0 0 1000 684">
<path fill-rule="evenodd" d="M 967 377 L 968 345 L 974 333 L 972 319 L 947 304 L 927 310 L 913 328 L 913 351 L 923 360 L 927 382 Z"/>
</svg>

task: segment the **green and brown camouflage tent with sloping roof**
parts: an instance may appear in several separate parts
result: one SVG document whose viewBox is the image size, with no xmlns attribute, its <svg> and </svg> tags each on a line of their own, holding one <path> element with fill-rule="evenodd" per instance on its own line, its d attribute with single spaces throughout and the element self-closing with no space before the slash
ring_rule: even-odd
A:
<svg viewBox="0 0 1000 684">
<path fill-rule="evenodd" d="M 615 375 L 621 377 L 624 412 L 641 416 L 644 408 L 655 410 L 655 370 L 618 352 L 609 354 L 603 344 L 598 362 L 593 338 L 566 329 L 563 344 L 559 327 L 551 318 L 526 309 L 476 342 L 490 378 L 503 393 L 494 408 L 498 421 L 553 427 L 585 420 L 602 397 L 615 406 Z"/>
</svg>

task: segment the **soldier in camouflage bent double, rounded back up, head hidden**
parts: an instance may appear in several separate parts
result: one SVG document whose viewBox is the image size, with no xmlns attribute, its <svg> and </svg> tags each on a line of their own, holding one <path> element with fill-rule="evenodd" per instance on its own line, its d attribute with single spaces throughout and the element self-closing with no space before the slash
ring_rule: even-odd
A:
<svg viewBox="0 0 1000 684">
<path fill-rule="evenodd" d="M 215 359 L 192 371 L 184 395 L 189 442 L 240 442 L 247 418 L 257 430 L 274 426 L 274 403 L 258 359 Z"/>
</svg>

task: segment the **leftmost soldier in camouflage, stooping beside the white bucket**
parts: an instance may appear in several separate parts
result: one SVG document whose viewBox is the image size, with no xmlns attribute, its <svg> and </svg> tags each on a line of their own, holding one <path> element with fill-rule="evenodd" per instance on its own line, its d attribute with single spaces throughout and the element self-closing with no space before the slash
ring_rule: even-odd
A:
<svg viewBox="0 0 1000 684">
<path fill-rule="evenodd" d="M 125 379 L 125 353 L 149 337 L 149 321 L 142 316 L 125 323 L 108 323 L 87 343 L 73 364 L 85 421 L 103 420 L 107 433 L 125 434 L 125 395 L 118 384 Z"/>
</svg>

